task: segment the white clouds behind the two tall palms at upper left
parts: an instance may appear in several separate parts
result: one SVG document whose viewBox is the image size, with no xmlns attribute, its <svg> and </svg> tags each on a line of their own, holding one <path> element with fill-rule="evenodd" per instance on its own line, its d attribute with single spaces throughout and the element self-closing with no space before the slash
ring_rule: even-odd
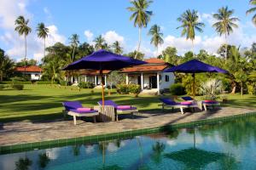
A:
<svg viewBox="0 0 256 170">
<path fill-rule="evenodd" d="M 0 40 L 9 48 L 6 53 L 10 57 L 20 60 L 25 54 L 24 37 L 20 37 L 15 31 L 15 20 L 21 14 L 26 19 L 29 19 L 29 26 L 31 26 L 32 14 L 27 11 L 27 0 L 20 0 L 17 3 L 15 0 L 2 0 L 0 6 L 0 28 L 3 28 L 3 35 Z M 44 8 L 45 14 L 50 14 L 48 8 Z M 55 25 L 48 26 L 49 36 L 46 38 L 46 46 L 53 45 L 55 42 L 66 41 L 66 37 L 58 32 Z M 32 31 L 27 36 L 27 58 L 28 59 L 42 59 L 44 55 L 44 40 L 39 39 L 37 33 Z"/>
</svg>

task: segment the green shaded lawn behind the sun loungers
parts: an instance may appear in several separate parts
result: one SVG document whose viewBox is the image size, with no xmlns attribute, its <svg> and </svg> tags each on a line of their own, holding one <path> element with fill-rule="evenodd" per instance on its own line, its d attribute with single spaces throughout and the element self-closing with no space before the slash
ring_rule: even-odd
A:
<svg viewBox="0 0 256 170">
<path fill-rule="evenodd" d="M 39 121 L 61 118 L 63 109 L 61 102 L 79 100 L 85 106 L 97 105 L 101 99 L 101 91 L 71 87 L 58 88 L 49 85 L 25 85 L 24 90 L 4 89 L 0 91 L 0 122 Z M 119 105 L 135 105 L 140 111 L 160 111 L 159 96 L 106 93 L 106 99 L 113 99 Z M 200 99 L 200 97 L 198 98 Z M 256 96 L 239 94 L 228 95 L 230 106 L 256 107 Z"/>
</svg>

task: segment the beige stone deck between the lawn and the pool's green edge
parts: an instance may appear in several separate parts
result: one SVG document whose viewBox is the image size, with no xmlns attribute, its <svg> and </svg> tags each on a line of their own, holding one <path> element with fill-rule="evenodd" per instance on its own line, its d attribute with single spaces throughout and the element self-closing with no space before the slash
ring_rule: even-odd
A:
<svg viewBox="0 0 256 170">
<path fill-rule="evenodd" d="M 195 122 L 224 116 L 241 115 L 255 112 L 256 108 L 224 107 L 217 111 L 201 111 L 185 114 L 180 112 L 138 113 L 132 119 L 125 116 L 119 122 L 84 122 L 79 120 L 73 125 L 73 120 L 54 122 L 8 122 L 0 126 L 0 146 L 11 144 L 33 143 L 54 139 L 69 139 L 98 135 L 102 133 L 119 133 L 148 127 L 161 127 L 168 124 Z"/>
</svg>

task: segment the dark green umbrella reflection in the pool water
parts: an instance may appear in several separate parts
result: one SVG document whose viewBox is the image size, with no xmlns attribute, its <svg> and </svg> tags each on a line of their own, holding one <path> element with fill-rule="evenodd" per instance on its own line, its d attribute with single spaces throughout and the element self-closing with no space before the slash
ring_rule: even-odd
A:
<svg viewBox="0 0 256 170">
<path fill-rule="evenodd" d="M 223 153 L 189 148 L 168 153 L 165 155 L 165 157 L 175 161 L 181 161 L 186 165 L 186 167 L 191 169 L 201 169 L 206 167 L 211 162 L 227 159 L 229 156 L 226 156 Z"/>
</svg>

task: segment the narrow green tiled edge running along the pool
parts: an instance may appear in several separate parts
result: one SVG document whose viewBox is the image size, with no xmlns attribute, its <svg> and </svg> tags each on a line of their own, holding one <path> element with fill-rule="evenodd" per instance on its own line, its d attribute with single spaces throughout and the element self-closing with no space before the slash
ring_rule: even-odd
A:
<svg viewBox="0 0 256 170">
<path fill-rule="evenodd" d="M 51 139 L 40 142 L 25 143 L 25 144 L 12 144 L 0 146 L 0 155 L 12 154 L 17 152 L 29 151 L 29 150 L 42 150 L 55 147 L 63 147 L 71 144 L 92 144 L 100 141 L 113 140 L 113 139 L 129 139 L 138 135 L 161 133 L 169 130 L 175 130 L 184 127 L 195 127 L 206 124 L 212 124 L 216 122 L 229 122 L 236 120 L 237 118 L 256 116 L 256 112 L 248 112 L 245 114 L 238 114 L 234 116 L 222 116 L 211 119 L 201 119 L 192 122 L 183 122 L 175 124 L 167 124 L 160 127 L 146 127 L 141 129 L 127 130 L 118 133 L 102 133 L 98 135 L 90 135 L 84 137 L 76 137 L 70 139 Z"/>
</svg>

